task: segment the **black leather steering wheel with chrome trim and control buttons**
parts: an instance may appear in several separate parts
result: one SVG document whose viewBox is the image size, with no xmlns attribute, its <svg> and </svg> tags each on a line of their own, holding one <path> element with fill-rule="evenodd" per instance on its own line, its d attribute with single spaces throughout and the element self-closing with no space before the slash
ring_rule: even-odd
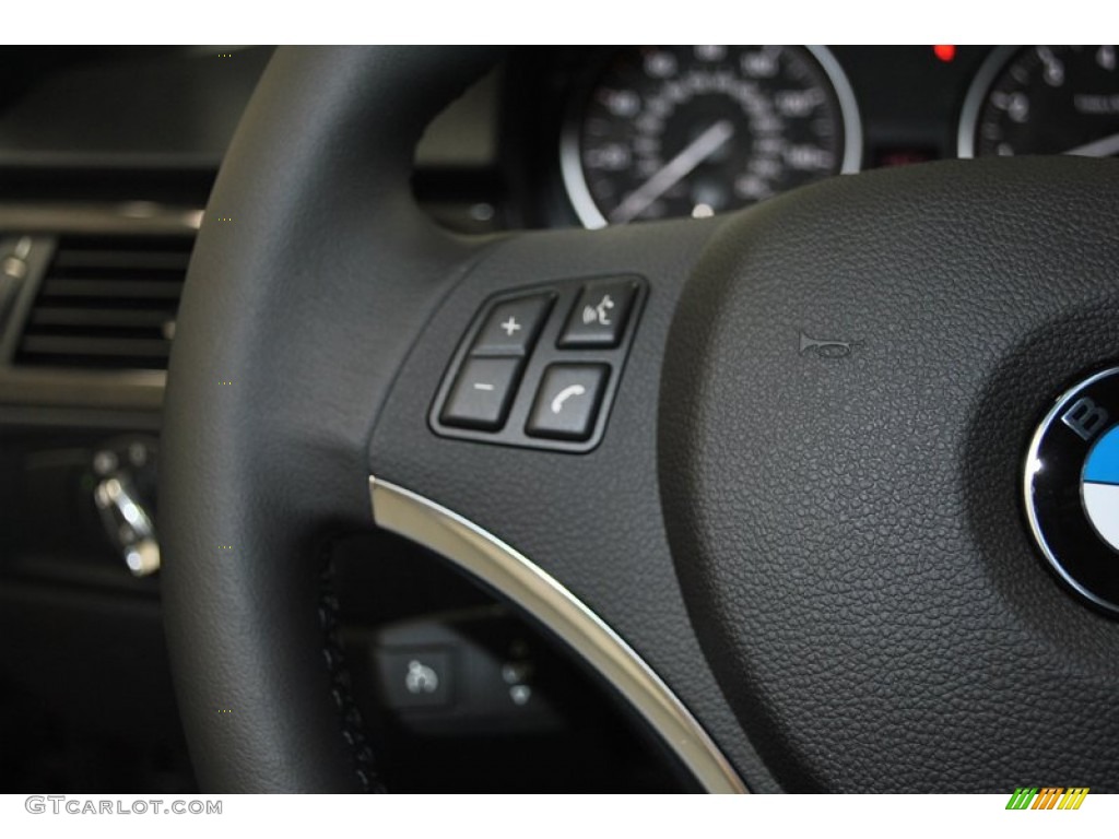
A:
<svg viewBox="0 0 1119 839">
<path fill-rule="evenodd" d="M 497 58 L 281 49 L 222 167 L 160 487 L 203 785 L 379 784 L 323 596 L 330 536 L 376 525 L 519 603 L 703 789 L 1119 786 L 1119 625 L 1050 573 L 1021 499 L 1041 416 L 1119 358 L 1119 167 L 941 162 L 455 236 L 412 154 Z M 618 322 L 603 289 L 630 301 L 613 343 L 565 343 Z M 526 300 L 535 336 L 466 373 Z M 590 431 L 548 432 L 537 389 L 580 370 Z"/>
</svg>

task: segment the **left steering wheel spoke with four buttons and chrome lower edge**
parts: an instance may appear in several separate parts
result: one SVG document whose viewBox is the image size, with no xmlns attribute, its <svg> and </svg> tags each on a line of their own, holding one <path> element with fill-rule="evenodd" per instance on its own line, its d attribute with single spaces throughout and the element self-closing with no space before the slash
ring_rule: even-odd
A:
<svg viewBox="0 0 1119 839">
<path fill-rule="evenodd" d="M 736 758 L 756 764 L 739 747 L 690 630 L 656 473 L 666 338 L 716 228 L 678 221 L 521 234 L 492 247 L 402 367 L 373 435 L 370 472 L 379 525 L 518 603 L 590 661 L 706 789 L 741 791 L 689 710 Z M 633 293 L 623 300 L 627 287 Z M 530 346 L 492 340 L 492 324 L 514 326 L 507 312 L 537 300 L 549 308 L 543 322 L 524 323 Z M 491 359 L 516 370 L 501 420 L 457 433 L 441 417 L 457 394 L 471 403 L 464 388 L 493 384 L 491 368 L 471 367 Z M 567 370 L 601 370 L 602 390 L 557 378 Z M 485 409 L 490 394 L 482 394 Z M 565 415 L 579 426 L 584 409 L 592 412 L 585 432 L 564 436 Z M 542 414 L 561 431 L 537 427 Z"/>
</svg>

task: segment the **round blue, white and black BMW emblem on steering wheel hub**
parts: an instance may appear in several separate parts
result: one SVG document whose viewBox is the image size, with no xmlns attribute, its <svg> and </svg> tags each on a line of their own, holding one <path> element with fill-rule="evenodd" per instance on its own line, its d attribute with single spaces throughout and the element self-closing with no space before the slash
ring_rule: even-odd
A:
<svg viewBox="0 0 1119 839">
<path fill-rule="evenodd" d="M 1119 614 L 1119 367 L 1066 393 L 1029 445 L 1026 515 L 1057 574 Z"/>
</svg>

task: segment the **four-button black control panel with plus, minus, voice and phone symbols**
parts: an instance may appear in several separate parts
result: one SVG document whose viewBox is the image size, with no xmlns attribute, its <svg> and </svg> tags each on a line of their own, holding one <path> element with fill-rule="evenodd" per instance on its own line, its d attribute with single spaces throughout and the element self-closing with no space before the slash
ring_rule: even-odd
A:
<svg viewBox="0 0 1119 839">
<path fill-rule="evenodd" d="M 602 440 L 647 289 L 632 275 L 564 280 L 490 298 L 454 353 L 432 431 L 589 452 Z"/>
</svg>

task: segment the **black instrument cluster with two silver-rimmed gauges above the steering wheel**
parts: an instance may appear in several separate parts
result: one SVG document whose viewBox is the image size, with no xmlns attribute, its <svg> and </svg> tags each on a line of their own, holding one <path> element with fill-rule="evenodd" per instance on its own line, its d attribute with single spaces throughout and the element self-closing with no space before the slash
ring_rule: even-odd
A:
<svg viewBox="0 0 1119 839">
<path fill-rule="evenodd" d="M 702 218 L 947 158 L 1119 153 L 1113 46 L 556 47 L 507 73 L 529 225 Z"/>
</svg>

